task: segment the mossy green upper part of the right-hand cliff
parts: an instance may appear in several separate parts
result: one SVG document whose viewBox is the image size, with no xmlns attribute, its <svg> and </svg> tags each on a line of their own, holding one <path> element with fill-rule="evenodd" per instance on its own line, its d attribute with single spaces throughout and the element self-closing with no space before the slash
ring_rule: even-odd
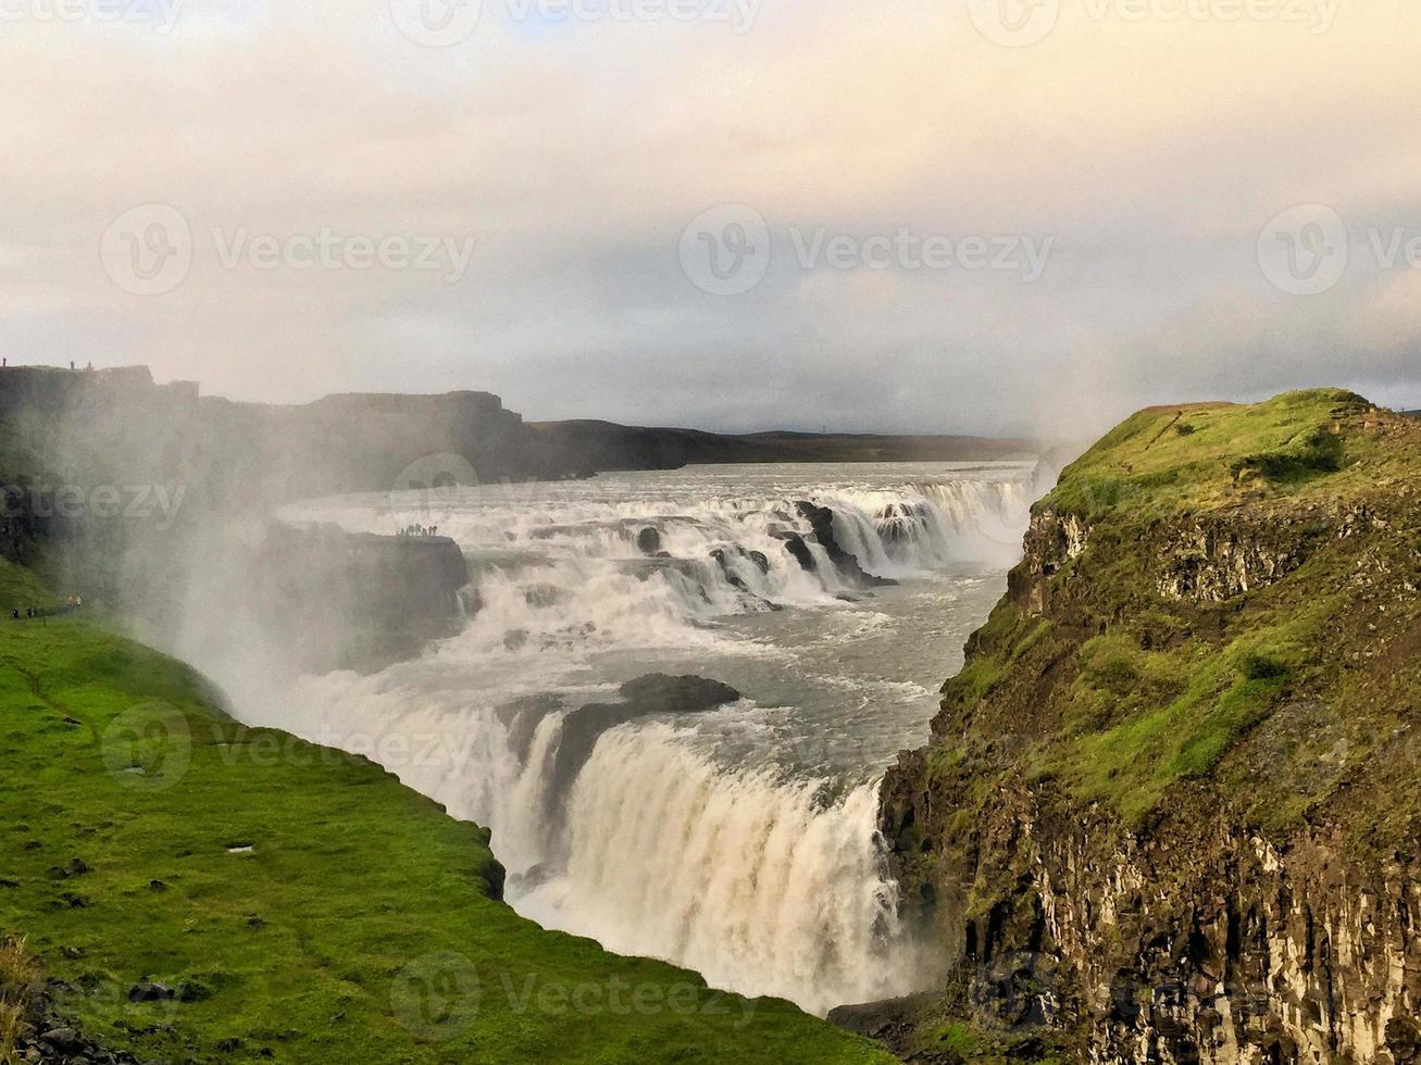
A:
<svg viewBox="0 0 1421 1065">
<path fill-rule="evenodd" d="M 1084 548 L 1037 567 L 1046 609 L 1007 596 L 973 638 L 939 721 L 965 724 L 968 743 L 936 763 L 968 758 L 973 724 L 1010 716 L 1034 736 L 1032 778 L 1125 824 L 1219 775 L 1243 790 L 1252 821 L 1296 826 L 1346 774 L 1282 772 L 1287 760 L 1337 743 L 1360 758 L 1410 727 L 1421 692 L 1418 474 L 1421 425 L 1346 392 L 1135 415 L 1037 504 L 1037 515 L 1088 530 Z M 1046 700 L 1023 721 L 1027 690 Z M 1275 750 L 1290 730 L 1259 726 L 1304 713 L 1299 700 L 1326 706 L 1331 726 Z M 1275 770 L 1263 780 L 1259 760 Z M 1411 787 L 1397 798 L 1400 819 L 1381 828 L 1405 832 L 1421 802 Z"/>
</svg>

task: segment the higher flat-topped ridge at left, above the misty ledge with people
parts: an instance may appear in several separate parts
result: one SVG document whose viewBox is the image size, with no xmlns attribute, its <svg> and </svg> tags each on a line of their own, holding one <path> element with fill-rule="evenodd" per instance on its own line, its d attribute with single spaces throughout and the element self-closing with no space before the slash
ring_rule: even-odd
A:
<svg viewBox="0 0 1421 1065">
<path fill-rule="evenodd" d="M 429 462 L 442 462 L 462 483 L 578 473 L 487 392 L 342 393 L 264 405 L 202 396 L 193 382 L 155 385 L 146 366 L 7 366 L 0 423 L 14 446 L 61 464 L 60 474 L 182 483 L 193 491 L 192 506 L 219 511 L 391 491 L 412 466 Z"/>
</svg>

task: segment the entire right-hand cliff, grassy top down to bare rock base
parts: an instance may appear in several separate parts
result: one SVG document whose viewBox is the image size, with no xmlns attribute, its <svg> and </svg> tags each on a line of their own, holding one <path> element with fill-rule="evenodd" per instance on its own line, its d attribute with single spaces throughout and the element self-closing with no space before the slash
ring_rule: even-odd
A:
<svg viewBox="0 0 1421 1065">
<path fill-rule="evenodd" d="M 1179 416 L 1063 474 L 884 782 L 956 968 L 838 1020 L 909 1061 L 1421 1061 L 1421 426 Z"/>
</svg>

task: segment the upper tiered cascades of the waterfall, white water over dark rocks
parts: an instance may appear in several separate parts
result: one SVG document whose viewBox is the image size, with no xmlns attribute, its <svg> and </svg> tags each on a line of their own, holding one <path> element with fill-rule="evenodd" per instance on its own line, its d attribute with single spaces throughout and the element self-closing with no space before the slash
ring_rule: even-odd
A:
<svg viewBox="0 0 1421 1065">
<path fill-rule="evenodd" d="M 429 524 L 431 508 L 442 508 L 441 534 L 460 544 L 476 572 L 479 606 L 459 638 L 466 652 L 534 656 L 696 643 L 696 630 L 716 618 L 833 602 L 851 588 L 824 548 L 806 544 L 814 572 L 786 550 L 786 537 L 807 534 L 800 501 L 834 513 L 840 542 L 865 569 L 901 578 L 953 562 L 1010 564 L 1033 497 L 1016 467 L 892 488 L 628 500 L 618 487 L 489 488 L 441 504 L 411 496 L 378 515 L 360 506 L 293 514 L 392 532 Z M 659 557 L 638 547 L 647 530 Z"/>
</svg>

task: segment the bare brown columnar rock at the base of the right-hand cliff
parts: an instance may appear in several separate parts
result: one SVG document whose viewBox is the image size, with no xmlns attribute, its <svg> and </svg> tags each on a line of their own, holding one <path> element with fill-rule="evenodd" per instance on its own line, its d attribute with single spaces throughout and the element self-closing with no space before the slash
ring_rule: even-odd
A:
<svg viewBox="0 0 1421 1065">
<path fill-rule="evenodd" d="M 983 878 L 1010 889 L 983 913 L 938 914 L 952 912 L 985 1030 L 1074 1032 L 1100 1065 L 1415 1061 L 1414 863 L 1368 876 L 1323 834 L 1286 852 L 1223 819 L 1121 836 L 1046 795 L 1002 798 L 1009 812 L 979 825 L 982 863 L 948 897 Z"/>
</svg>

